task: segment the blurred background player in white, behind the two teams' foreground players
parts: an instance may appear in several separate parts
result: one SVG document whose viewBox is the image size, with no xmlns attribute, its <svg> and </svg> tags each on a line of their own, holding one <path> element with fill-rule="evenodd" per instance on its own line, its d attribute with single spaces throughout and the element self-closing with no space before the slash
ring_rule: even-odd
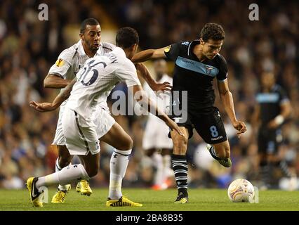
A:
<svg viewBox="0 0 299 225">
<path fill-rule="evenodd" d="M 163 58 L 154 61 L 154 72 L 156 73 L 156 81 L 163 83 L 168 82 L 172 84 L 173 79 L 166 74 L 167 65 L 166 60 Z M 164 113 L 168 113 L 170 96 L 167 93 L 154 92 L 150 89 L 150 86 L 145 83 L 143 89 L 147 92 L 147 95 L 154 99 L 161 110 Z M 154 128 L 154 129 L 153 129 Z M 170 185 L 169 176 L 173 175 L 171 169 L 171 153 L 173 148 L 173 141 L 168 138 L 169 128 L 166 124 L 149 114 L 145 132 L 142 138 L 142 148 L 145 153 L 152 160 L 152 166 L 155 168 L 153 186 L 154 190 L 163 190 Z M 161 151 L 161 153 L 158 153 Z"/>
</svg>

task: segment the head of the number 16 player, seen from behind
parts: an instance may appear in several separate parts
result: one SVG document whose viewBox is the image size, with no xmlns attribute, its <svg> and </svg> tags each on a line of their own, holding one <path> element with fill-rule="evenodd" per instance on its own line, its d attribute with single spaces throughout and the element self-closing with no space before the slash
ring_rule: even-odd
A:
<svg viewBox="0 0 299 225">
<path fill-rule="evenodd" d="M 123 27 L 117 31 L 116 44 L 126 52 L 126 57 L 133 58 L 138 49 L 138 32 L 131 27 Z"/>
</svg>

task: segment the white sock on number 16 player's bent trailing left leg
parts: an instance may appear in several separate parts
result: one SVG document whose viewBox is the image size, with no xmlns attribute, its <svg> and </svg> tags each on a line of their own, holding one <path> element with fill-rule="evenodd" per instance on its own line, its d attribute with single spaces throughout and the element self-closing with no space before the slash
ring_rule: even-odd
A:
<svg viewBox="0 0 299 225">
<path fill-rule="evenodd" d="M 61 169 L 60 172 L 39 177 L 39 180 L 36 182 L 36 188 L 50 186 L 52 184 L 72 184 L 82 179 L 89 179 L 84 166 L 81 164 L 71 165 Z"/>
</svg>

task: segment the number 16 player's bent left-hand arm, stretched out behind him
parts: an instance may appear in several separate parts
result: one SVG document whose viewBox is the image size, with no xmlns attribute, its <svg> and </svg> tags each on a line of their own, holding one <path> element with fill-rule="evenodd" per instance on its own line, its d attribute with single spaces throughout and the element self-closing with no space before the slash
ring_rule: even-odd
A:
<svg viewBox="0 0 299 225">
<path fill-rule="evenodd" d="M 77 82 L 77 78 L 74 78 L 67 87 L 56 96 L 53 103 L 37 103 L 35 101 L 30 101 L 29 105 L 35 110 L 45 113 L 57 109 L 71 94 L 74 84 Z"/>
</svg>

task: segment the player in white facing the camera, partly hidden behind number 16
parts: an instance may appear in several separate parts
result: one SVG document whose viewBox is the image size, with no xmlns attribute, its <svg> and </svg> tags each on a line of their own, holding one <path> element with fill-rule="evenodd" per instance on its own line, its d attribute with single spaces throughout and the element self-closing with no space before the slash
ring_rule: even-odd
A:
<svg viewBox="0 0 299 225">
<path fill-rule="evenodd" d="M 80 40 L 77 44 L 65 49 L 58 56 L 56 63 L 50 68 L 48 75 L 44 79 L 44 86 L 46 88 L 55 88 L 62 89 L 69 84 L 69 82 L 74 79 L 75 75 L 80 68 L 83 67 L 86 60 L 97 55 L 105 55 L 111 52 L 115 46 L 107 42 L 100 41 L 101 29 L 100 24 L 97 20 L 93 18 L 88 18 L 81 23 L 80 27 Z M 151 84 L 153 89 L 165 90 L 169 86 L 168 84 L 157 84 L 150 77 L 150 74 L 147 72 L 143 66 L 138 63 L 136 68 L 140 70 L 140 75 L 145 76 L 145 80 Z M 65 110 L 65 105 L 67 100 L 60 105 L 60 112 L 58 118 L 58 124 L 55 131 L 55 138 L 53 144 L 58 146 L 58 159 L 55 163 L 55 172 L 60 171 L 62 168 L 67 167 L 72 161 L 72 155 L 69 154 L 67 147 L 65 146 L 65 136 L 62 132 L 62 115 Z M 100 103 L 99 107 L 107 108 L 106 101 Z M 98 129 L 102 129 L 103 127 Z M 53 195 L 52 203 L 64 203 L 67 191 L 71 186 L 59 185 L 58 191 Z M 77 184 L 77 191 L 81 192 L 83 195 L 91 195 L 92 190 L 88 184 L 88 181 L 82 180 Z"/>
</svg>

